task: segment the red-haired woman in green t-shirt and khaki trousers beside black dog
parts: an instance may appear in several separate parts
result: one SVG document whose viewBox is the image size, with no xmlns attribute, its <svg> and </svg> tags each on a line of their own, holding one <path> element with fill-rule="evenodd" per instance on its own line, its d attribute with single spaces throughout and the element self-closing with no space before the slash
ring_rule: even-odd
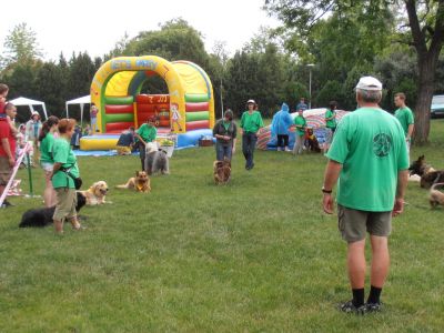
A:
<svg viewBox="0 0 444 333">
<path fill-rule="evenodd" d="M 60 137 L 54 140 L 52 145 L 54 164 L 49 179 L 57 192 L 57 204 L 52 220 L 54 221 L 56 232 L 59 234 L 63 233 L 64 220 L 69 220 L 74 230 L 83 229 L 77 218 L 74 181 L 68 174 L 70 172 L 74 178 L 80 176 L 79 165 L 70 145 L 74 128 L 74 119 L 61 119 L 58 125 Z"/>
</svg>

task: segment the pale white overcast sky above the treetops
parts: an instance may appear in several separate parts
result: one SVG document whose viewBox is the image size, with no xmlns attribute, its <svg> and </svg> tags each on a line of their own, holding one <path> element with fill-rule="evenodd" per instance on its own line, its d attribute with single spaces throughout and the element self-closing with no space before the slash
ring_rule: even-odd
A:
<svg viewBox="0 0 444 333">
<path fill-rule="evenodd" d="M 44 60 L 67 59 L 87 51 L 102 57 L 124 33 L 159 30 L 159 24 L 182 18 L 203 34 L 205 49 L 225 42 L 229 54 L 240 50 L 260 31 L 279 22 L 261 9 L 264 0 L 12 0 L 0 19 L 0 53 L 4 38 L 19 23 L 37 33 Z"/>
</svg>

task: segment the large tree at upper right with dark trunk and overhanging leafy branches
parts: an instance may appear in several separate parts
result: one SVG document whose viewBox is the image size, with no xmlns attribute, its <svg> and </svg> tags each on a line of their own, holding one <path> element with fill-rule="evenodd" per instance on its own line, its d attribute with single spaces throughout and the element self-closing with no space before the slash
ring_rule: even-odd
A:
<svg viewBox="0 0 444 333">
<path fill-rule="evenodd" d="M 427 142 L 430 105 L 444 41 L 444 0 L 265 0 L 265 9 L 284 22 L 284 30 L 293 37 L 289 43 L 293 50 L 306 44 L 314 27 L 329 13 L 345 19 L 356 18 L 367 31 L 365 37 L 383 37 L 393 31 L 387 30 L 387 23 L 398 23 L 394 28 L 397 29 L 400 41 L 408 42 L 417 54 L 415 141 Z M 394 21 L 403 12 L 407 13 L 408 22 L 402 24 Z"/>
</svg>

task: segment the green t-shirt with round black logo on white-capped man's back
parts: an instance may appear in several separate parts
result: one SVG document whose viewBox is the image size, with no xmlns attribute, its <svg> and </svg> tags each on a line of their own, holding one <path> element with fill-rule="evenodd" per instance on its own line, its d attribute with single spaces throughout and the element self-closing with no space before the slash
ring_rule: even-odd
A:
<svg viewBox="0 0 444 333">
<path fill-rule="evenodd" d="M 393 210 L 397 172 L 408 168 L 400 122 L 376 108 L 361 108 L 342 118 L 326 153 L 342 164 L 337 203 L 371 211 Z"/>
</svg>

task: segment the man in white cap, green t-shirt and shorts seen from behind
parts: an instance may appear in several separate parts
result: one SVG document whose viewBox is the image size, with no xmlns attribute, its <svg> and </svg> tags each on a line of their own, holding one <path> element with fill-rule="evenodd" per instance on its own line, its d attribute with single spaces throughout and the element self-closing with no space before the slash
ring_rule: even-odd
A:
<svg viewBox="0 0 444 333">
<path fill-rule="evenodd" d="M 377 79 L 361 78 L 356 85 L 359 109 L 341 120 L 326 154 L 323 209 L 333 213 L 332 190 L 339 180 L 339 229 L 349 244 L 353 300 L 341 305 L 344 312 L 363 314 L 381 309 L 380 295 L 389 272 L 391 219 L 403 212 L 408 154 L 400 122 L 379 107 L 381 97 Z M 372 273 L 364 304 L 366 232 L 372 244 Z"/>
</svg>

